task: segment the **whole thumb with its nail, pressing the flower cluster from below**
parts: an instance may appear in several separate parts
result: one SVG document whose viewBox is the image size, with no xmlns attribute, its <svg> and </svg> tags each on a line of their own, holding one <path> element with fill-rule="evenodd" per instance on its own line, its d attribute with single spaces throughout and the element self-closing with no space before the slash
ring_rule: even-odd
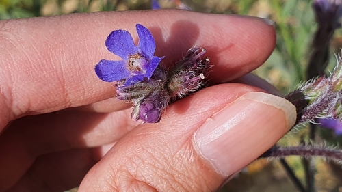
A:
<svg viewBox="0 0 342 192">
<path fill-rule="evenodd" d="M 179 100 L 158 124 L 137 126 L 98 162 L 79 191 L 214 191 L 295 123 L 284 98 L 225 84 Z"/>
</svg>

